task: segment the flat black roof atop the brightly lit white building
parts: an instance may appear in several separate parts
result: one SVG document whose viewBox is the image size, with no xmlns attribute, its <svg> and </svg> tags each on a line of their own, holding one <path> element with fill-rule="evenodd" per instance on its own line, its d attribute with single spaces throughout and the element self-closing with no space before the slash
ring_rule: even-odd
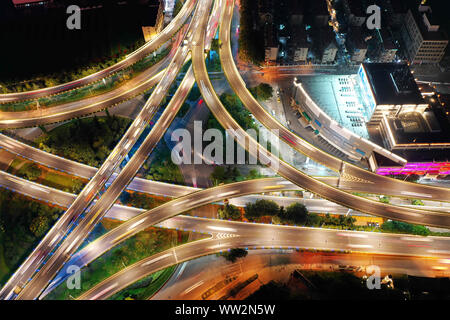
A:
<svg viewBox="0 0 450 320">
<path fill-rule="evenodd" d="M 417 83 L 407 64 L 363 63 L 374 98 L 379 105 L 423 104 Z"/>
</svg>

